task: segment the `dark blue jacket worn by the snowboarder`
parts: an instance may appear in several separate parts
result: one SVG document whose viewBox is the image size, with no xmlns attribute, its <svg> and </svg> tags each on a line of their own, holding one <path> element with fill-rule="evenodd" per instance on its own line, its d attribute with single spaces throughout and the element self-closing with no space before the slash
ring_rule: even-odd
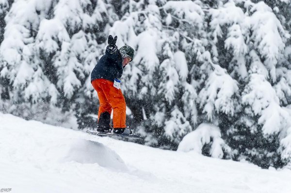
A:
<svg viewBox="0 0 291 193">
<path fill-rule="evenodd" d="M 121 78 L 123 73 L 123 59 L 117 46 L 107 46 L 91 73 L 91 82 L 95 79 L 106 79 L 114 82 L 114 78 Z"/>
</svg>

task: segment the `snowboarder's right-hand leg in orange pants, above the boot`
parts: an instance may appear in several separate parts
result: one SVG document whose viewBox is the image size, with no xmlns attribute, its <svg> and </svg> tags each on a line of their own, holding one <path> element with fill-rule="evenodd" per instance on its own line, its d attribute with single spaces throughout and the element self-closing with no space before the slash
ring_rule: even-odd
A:
<svg viewBox="0 0 291 193">
<path fill-rule="evenodd" d="M 100 87 L 113 108 L 113 127 L 125 128 L 126 103 L 121 90 L 113 87 L 113 82 L 109 80 L 104 80 Z"/>
</svg>

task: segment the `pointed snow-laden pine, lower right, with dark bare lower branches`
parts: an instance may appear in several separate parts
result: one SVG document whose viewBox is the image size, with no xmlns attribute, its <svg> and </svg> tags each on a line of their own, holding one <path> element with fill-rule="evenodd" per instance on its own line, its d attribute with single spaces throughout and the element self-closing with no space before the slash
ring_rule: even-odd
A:
<svg viewBox="0 0 291 193">
<path fill-rule="evenodd" d="M 249 81 L 242 92 L 245 104 L 242 117 L 228 131 L 233 140 L 230 145 L 238 150 L 237 159 L 267 168 L 279 167 L 282 166 L 279 135 L 288 126 L 289 115 L 280 107 L 275 90 L 256 62 L 259 63 L 254 61 L 251 65 Z"/>
</svg>

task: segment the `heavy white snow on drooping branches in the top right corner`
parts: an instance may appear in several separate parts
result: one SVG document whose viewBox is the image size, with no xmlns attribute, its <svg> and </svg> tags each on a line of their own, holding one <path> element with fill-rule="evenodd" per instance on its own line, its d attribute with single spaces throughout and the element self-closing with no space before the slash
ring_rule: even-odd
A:
<svg viewBox="0 0 291 193">
<path fill-rule="evenodd" d="M 246 18 L 251 30 L 250 40 L 264 59 L 264 65 L 270 71 L 272 81 L 276 80 L 277 59 L 283 53 L 285 43 L 290 38 L 290 33 L 284 30 L 279 19 L 273 13 L 271 7 L 263 1 L 248 3 L 250 16 Z"/>
</svg>

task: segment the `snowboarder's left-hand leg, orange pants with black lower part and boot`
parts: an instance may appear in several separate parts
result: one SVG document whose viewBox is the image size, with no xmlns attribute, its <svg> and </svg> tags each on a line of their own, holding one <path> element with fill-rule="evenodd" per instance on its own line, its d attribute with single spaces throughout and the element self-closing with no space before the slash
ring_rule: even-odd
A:
<svg viewBox="0 0 291 193">
<path fill-rule="evenodd" d="M 110 117 L 112 112 L 112 106 L 106 99 L 106 96 L 101 89 L 102 79 L 96 79 L 92 81 L 94 89 L 97 91 L 99 98 L 99 111 L 98 111 L 98 128 L 103 130 L 110 130 Z"/>
</svg>

